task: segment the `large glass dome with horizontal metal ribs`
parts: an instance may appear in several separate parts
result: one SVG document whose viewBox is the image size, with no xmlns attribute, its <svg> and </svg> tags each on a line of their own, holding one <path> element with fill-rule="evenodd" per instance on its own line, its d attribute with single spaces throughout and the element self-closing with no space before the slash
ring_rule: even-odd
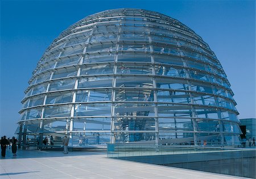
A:
<svg viewBox="0 0 256 179">
<path fill-rule="evenodd" d="M 229 81 L 209 45 L 169 16 L 115 9 L 53 40 L 32 72 L 16 134 L 71 145 L 234 145 Z"/>
</svg>

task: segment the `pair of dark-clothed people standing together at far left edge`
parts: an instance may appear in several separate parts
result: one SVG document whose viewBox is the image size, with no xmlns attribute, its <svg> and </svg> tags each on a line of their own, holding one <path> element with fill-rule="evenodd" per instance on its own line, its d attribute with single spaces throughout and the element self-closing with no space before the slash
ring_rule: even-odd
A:
<svg viewBox="0 0 256 179">
<path fill-rule="evenodd" d="M 12 139 L 10 139 L 10 138 L 6 139 L 6 136 L 2 136 L 1 137 L 1 141 L 0 141 L 2 157 L 5 157 L 5 155 L 6 155 L 6 148 L 8 146 L 9 146 L 9 149 L 10 149 L 10 146 L 11 146 L 11 152 L 13 152 L 13 156 L 16 156 L 17 143 L 18 143 L 18 140 L 14 136 L 13 136 Z"/>
</svg>

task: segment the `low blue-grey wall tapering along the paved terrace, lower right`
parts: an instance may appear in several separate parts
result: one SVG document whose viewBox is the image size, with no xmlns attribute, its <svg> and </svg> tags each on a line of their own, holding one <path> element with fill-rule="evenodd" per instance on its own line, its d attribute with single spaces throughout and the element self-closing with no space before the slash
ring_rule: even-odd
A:
<svg viewBox="0 0 256 179">
<path fill-rule="evenodd" d="M 141 163 L 201 170 L 204 172 L 256 178 L 255 150 L 185 153 L 175 155 L 123 156 L 114 158 Z"/>
</svg>

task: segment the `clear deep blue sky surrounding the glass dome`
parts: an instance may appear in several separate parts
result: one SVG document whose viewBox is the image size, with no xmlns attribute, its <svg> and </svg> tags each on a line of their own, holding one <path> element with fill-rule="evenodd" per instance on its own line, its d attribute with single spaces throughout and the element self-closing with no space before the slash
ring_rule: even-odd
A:
<svg viewBox="0 0 256 179">
<path fill-rule="evenodd" d="M 1 1 L 0 136 L 13 136 L 20 101 L 45 49 L 73 23 L 108 9 L 166 14 L 192 28 L 220 60 L 239 118 L 255 118 L 255 1 Z"/>
</svg>

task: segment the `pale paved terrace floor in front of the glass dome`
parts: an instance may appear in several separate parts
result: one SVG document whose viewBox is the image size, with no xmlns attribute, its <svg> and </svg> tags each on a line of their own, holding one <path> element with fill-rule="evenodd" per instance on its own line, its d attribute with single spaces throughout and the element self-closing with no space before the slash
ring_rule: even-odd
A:
<svg viewBox="0 0 256 179">
<path fill-rule="evenodd" d="M 238 178 L 167 166 L 109 159 L 106 152 L 18 151 L 0 159 L 0 178 Z"/>
</svg>

